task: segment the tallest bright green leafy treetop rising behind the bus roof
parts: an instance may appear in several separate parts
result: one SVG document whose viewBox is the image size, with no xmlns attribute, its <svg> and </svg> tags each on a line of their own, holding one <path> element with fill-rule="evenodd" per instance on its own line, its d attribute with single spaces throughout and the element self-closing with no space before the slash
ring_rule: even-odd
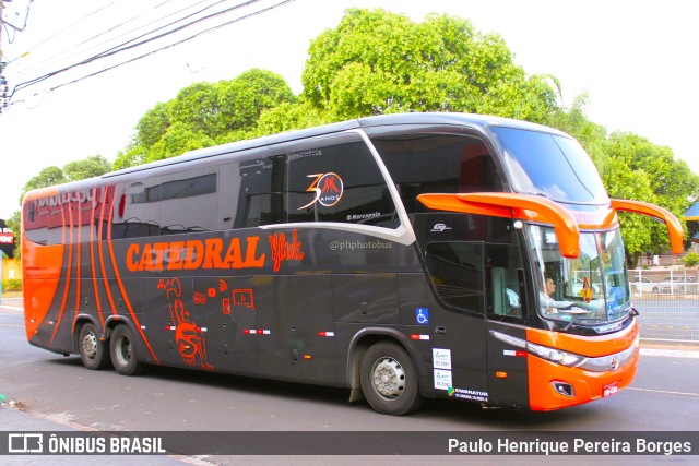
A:
<svg viewBox="0 0 699 466">
<path fill-rule="evenodd" d="M 417 24 L 350 9 L 311 43 L 303 83 L 308 101 L 334 119 L 466 111 L 541 121 L 557 106 L 548 81 L 528 79 L 500 36 L 449 15 Z"/>
</svg>

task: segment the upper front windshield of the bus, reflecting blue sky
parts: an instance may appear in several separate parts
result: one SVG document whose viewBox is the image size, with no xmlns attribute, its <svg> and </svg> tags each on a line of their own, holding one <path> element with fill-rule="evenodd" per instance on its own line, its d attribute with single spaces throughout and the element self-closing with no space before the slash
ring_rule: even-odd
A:
<svg viewBox="0 0 699 466">
<path fill-rule="evenodd" d="M 561 202 L 609 202 L 592 159 L 577 141 L 513 128 L 493 131 L 514 191 Z"/>
</svg>

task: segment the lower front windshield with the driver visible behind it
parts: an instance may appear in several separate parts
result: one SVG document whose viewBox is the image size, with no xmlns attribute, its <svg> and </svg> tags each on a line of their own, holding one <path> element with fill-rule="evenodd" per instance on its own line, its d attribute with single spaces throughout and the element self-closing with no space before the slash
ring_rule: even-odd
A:
<svg viewBox="0 0 699 466">
<path fill-rule="evenodd" d="M 529 242 L 541 274 L 538 311 L 545 319 L 597 325 L 631 309 L 618 229 L 581 232 L 580 255 L 564 258 L 553 228 L 530 225 Z"/>
</svg>

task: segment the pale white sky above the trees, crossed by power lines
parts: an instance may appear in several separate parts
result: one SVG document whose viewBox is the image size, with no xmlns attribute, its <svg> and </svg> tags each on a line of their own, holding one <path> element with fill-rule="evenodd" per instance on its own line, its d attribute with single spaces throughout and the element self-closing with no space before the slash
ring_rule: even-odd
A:
<svg viewBox="0 0 699 466">
<path fill-rule="evenodd" d="M 253 2 L 220 23 L 281 1 Z M 3 17 L 22 27 L 28 3 L 5 3 Z M 108 49 L 115 43 L 107 39 L 126 34 L 131 25 L 199 3 L 214 0 L 34 0 L 24 31 L 10 33 L 12 41 L 2 33 L 0 48 L 11 60 L 3 74 L 12 91 L 86 57 L 83 49 L 88 46 L 93 55 Z M 244 1 L 222 2 L 218 9 L 239 3 Z M 63 167 L 93 155 L 114 162 L 147 110 L 194 82 L 230 80 L 261 68 L 300 93 L 310 41 L 336 27 L 347 8 L 382 8 L 416 22 L 428 13 L 448 13 L 471 21 L 482 33 L 499 34 L 528 74 L 559 80 L 565 105 L 587 92 L 592 121 L 609 133 L 632 132 L 670 146 L 699 174 L 699 150 L 692 141 L 699 110 L 699 27 L 692 2 L 295 0 L 52 92 L 47 89 L 185 36 L 169 36 L 17 91 L 13 105 L 0 115 L 0 218 L 12 216 L 24 184 L 48 166 Z"/>
</svg>

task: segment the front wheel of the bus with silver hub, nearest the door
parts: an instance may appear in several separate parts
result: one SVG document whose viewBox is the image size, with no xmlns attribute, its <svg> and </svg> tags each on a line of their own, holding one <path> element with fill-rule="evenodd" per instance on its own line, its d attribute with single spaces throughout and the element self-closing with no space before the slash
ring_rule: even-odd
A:
<svg viewBox="0 0 699 466">
<path fill-rule="evenodd" d="M 378 413 L 402 416 L 423 403 L 417 372 L 405 349 L 379 342 L 364 355 L 360 368 L 362 392 Z"/>
</svg>

